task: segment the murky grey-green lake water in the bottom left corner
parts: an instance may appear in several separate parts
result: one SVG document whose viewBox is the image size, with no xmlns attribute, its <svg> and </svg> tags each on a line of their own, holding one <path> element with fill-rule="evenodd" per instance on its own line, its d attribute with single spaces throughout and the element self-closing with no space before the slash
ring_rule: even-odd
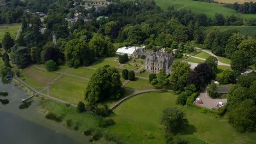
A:
<svg viewBox="0 0 256 144">
<path fill-rule="evenodd" d="M 20 110 L 21 99 L 30 95 L 14 83 L 0 82 L 0 92 L 9 93 L 7 97 L 0 96 L 0 99 L 9 100 L 7 105 L 0 103 L 0 143 L 89 143 L 88 137 L 78 131 L 69 130 L 61 123 L 44 118 L 38 109 L 37 98 L 33 98 L 28 109 Z"/>
</svg>

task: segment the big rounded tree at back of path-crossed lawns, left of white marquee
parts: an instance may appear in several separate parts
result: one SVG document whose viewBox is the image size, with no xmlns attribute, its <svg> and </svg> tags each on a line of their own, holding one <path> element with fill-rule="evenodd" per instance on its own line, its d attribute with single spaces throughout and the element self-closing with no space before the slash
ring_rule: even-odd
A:
<svg viewBox="0 0 256 144">
<path fill-rule="evenodd" d="M 79 65 L 89 65 L 95 60 L 95 52 L 82 39 L 73 39 L 65 46 L 65 58 L 69 67 L 74 66 L 75 60 L 79 60 Z"/>
</svg>

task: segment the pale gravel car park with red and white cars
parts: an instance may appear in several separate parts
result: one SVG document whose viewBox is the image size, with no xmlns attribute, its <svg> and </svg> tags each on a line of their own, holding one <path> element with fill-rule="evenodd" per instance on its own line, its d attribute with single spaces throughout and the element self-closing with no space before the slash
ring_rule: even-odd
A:
<svg viewBox="0 0 256 144">
<path fill-rule="evenodd" d="M 212 99 L 211 97 L 209 97 L 206 90 L 200 93 L 198 98 L 202 100 L 203 104 L 199 104 L 199 103 L 195 103 L 195 104 L 200 105 L 202 107 L 207 107 L 208 109 L 212 109 L 213 107 L 216 107 L 218 102 L 222 102 L 224 105 L 227 102 L 227 99 Z"/>
</svg>

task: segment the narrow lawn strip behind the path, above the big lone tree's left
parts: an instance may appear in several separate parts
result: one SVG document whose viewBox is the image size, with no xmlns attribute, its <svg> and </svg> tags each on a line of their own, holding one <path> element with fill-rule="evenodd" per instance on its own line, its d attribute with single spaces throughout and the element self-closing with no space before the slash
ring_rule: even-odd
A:
<svg viewBox="0 0 256 144">
<path fill-rule="evenodd" d="M 88 79 L 95 73 L 96 69 L 79 67 L 78 69 L 72 69 L 68 71 L 68 74 L 86 77 Z"/>
</svg>

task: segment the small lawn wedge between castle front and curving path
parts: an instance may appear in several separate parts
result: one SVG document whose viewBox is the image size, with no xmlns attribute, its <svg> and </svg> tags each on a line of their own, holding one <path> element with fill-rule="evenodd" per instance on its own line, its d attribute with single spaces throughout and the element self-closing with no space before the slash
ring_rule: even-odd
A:
<svg viewBox="0 0 256 144">
<path fill-rule="evenodd" d="M 135 77 L 135 81 L 129 81 L 126 83 L 125 87 L 136 90 L 154 89 L 154 87 L 149 84 L 148 80 L 140 79 L 138 77 Z"/>
</svg>

